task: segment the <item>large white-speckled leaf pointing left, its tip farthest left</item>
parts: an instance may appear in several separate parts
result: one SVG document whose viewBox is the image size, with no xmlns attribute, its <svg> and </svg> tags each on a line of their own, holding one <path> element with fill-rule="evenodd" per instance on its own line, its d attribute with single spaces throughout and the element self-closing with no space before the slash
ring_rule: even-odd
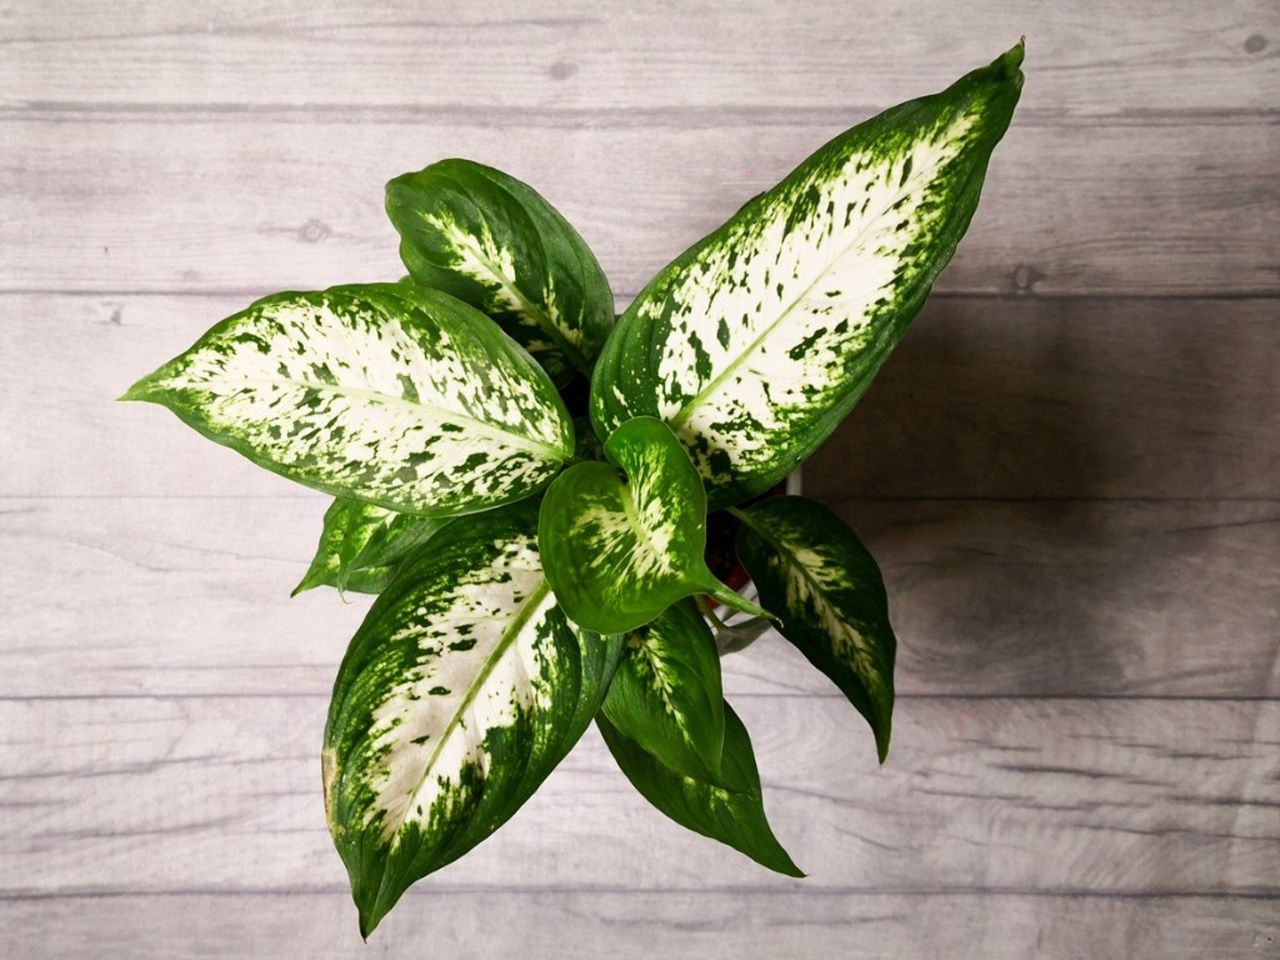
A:
<svg viewBox="0 0 1280 960">
<path fill-rule="evenodd" d="M 475 308 L 411 284 L 260 300 L 123 399 L 298 483 L 424 516 L 527 497 L 573 452 L 541 367 Z"/>
</svg>

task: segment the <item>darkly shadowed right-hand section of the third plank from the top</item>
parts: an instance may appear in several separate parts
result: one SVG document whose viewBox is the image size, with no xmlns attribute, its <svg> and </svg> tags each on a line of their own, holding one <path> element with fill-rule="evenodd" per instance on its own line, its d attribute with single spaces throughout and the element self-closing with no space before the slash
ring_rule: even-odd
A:
<svg viewBox="0 0 1280 960">
<path fill-rule="evenodd" d="M 1280 301 L 933 301 L 815 497 L 1280 495 Z"/>
</svg>

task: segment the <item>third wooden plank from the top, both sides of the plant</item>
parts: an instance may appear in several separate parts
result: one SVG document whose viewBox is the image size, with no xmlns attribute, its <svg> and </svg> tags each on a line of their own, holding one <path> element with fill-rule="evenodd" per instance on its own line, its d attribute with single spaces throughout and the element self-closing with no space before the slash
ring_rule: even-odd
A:
<svg viewBox="0 0 1280 960">
<path fill-rule="evenodd" d="M 12 344 L 0 420 L 23 451 L 0 495 L 301 493 L 159 407 L 113 403 L 247 301 L 0 297 Z M 1277 357 L 1276 300 L 936 297 L 806 467 L 806 489 L 828 500 L 1276 498 Z"/>
</svg>

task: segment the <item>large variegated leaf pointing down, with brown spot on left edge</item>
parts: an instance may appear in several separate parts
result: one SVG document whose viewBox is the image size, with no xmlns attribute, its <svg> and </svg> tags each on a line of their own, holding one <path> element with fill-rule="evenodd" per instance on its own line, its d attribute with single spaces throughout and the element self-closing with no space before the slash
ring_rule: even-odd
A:
<svg viewBox="0 0 1280 960">
<path fill-rule="evenodd" d="M 504 823 L 599 708 L 621 637 L 568 621 L 538 506 L 461 517 L 375 600 L 338 671 L 325 809 L 367 936 Z"/>
</svg>

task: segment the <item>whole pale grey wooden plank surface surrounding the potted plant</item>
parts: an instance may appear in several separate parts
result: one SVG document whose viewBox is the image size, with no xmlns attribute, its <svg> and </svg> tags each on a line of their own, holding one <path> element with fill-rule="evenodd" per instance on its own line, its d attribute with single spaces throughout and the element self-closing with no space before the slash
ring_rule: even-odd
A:
<svg viewBox="0 0 1280 960">
<path fill-rule="evenodd" d="M 893 754 L 726 660 L 773 877 L 590 733 L 369 946 L 317 750 L 324 500 L 110 401 L 398 275 L 381 184 L 511 170 L 621 301 L 831 134 L 1028 37 L 982 207 L 806 472 L 888 580 Z M 0 954 L 1280 956 L 1274 0 L 0 3 Z"/>
</svg>

